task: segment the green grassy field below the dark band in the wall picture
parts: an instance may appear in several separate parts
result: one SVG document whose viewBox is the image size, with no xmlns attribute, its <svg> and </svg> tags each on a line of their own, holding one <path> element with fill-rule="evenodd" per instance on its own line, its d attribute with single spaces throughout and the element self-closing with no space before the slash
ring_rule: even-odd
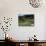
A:
<svg viewBox="0 0 46 46">
<path fill-rule="evenodd" d="M 22 18 L 19 19 L 19 26 L 32 26 L 34 25 L 34 19 Z"/>
</svg>

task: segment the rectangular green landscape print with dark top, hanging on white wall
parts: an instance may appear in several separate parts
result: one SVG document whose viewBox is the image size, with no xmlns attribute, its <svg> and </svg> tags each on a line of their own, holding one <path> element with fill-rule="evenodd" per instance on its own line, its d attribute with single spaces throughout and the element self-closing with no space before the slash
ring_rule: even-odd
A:
<svg viewBox="0 0 46 46">
<path fill-rule="evenodd" d="M 34 26 L 34 14 L 25 14 L 18 16 L 19 26 Z"/>
</svg>

